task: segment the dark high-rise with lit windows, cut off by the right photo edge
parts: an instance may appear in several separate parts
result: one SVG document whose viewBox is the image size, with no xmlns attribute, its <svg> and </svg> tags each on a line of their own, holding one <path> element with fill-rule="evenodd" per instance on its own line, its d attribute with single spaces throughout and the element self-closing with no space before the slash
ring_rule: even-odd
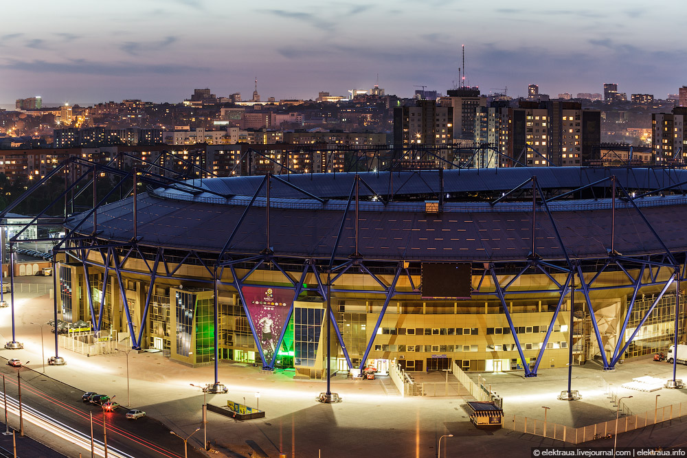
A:
<svg viewBox="0 0 687 458">
<path fill-rule="evenodd" d="M 676 106 L 673 113 L 653 113 L 651 115 L 651 150 L 657 163 L 672 161 L 682 156 L 687 160 L 687 108 Z M 680 150 L 682 148 L 682 150 Z M 676 157 L 679 151 L 678 157 Z"/>
</svg>

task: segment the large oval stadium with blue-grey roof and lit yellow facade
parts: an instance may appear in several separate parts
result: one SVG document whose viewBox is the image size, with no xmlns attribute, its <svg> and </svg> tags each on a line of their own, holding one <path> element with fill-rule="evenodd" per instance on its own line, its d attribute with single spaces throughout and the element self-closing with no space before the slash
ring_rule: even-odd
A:
<svg viewBox="0 0 687 458">
<path fill-rule="evenodd" d="M 295 378 L 326 378 L 328 354 L 382 374 L 613 369 L 684 341 L 684 170 L 138 175 L 55 249 L 56 308 L 95 341 Z"/>
</svg>

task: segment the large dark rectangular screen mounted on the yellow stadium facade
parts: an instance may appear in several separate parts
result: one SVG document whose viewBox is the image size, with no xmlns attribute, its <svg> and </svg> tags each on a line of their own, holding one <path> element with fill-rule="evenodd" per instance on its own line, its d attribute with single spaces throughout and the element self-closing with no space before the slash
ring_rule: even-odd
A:
<svg viewBox="0 0 687 458">
<path fill-rule="evenodd" d="M 470 299 L 471 264 L 423 262 L 420 295 L 423 299 Z"/>
</svg>

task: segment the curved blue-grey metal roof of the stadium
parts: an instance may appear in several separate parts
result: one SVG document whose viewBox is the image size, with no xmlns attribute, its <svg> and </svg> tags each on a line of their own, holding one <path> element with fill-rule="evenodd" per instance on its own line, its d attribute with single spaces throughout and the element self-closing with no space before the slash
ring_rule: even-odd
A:
<svg viewBox="0 0 687 458">
<path fill-rule="evenodd" d="M 507 191 L 532 174 L 542 187 L 574 189 L 610 174 L 626 189 L 657 189 L 687 181 L 687 172 L 647 169 L 517 168 L 444 171 L 445 192 Z M 439 189 L 437 172 L 394 172 L 394 192 L 425 194 Z M 390 194 L 387 173 L 361 174 L 378 194 Z M 286 177 L 280 176 L 286 180 Z M 266 240 L 266 199 L 256 198 L 238 222 L 262 176 L 204 179 L 194 185 L 210 192 L 190 194 L 181 189 L 155 190 L 137 201 L 139 244 L 174 249 L 220 252 L 234 230 L 230 254 L 251 255 L 267 247 L 275 255 L 322 257 L 332 254 L 354 174 L 291 175 L 290 183 L 330 200 L 319 203 L 299 190 L 273 180 Z M 400 190 L 400 191 L 399 191 Z M 264 190 L 263 190 L 264 191 Z M 361 195 L 372 194 L 360 187 Z M 225 194 L 220 197 L 217 194 Z M 686 251 L 687 198 L 648 196 L 631 203 L 616 199 L 615 249 L 624 255 Z M 611 248 L 610 199 L 556 201 L 551 217 L 539 206 L 534 217 L 535 251 L 550 260 L 606 257 Z M 355 250 L 354 203 L 346 221 L 337 257 Z M 658 240 L 643 216 L 657 231 Z M 78 216 L 69 223 L 75 227 Z M 78 229 L 92 232 L 91 220 Z M 126 242 L 133 238 L 133 201 L 126 198 L 98 211 L 100 238 Z M 560 240 L 559 240 L 560 236 Z M 562 243 L 561 243 L 562 241 Z M 474 262 L 524 260 L 532 249 L 532 207 L 527 203 L 445 203 L 439 214 L 425 213 L 424 203 L 365 201 L 359 205 L 358 251 L 373 260 L 464 260 Z"/>
</svg>

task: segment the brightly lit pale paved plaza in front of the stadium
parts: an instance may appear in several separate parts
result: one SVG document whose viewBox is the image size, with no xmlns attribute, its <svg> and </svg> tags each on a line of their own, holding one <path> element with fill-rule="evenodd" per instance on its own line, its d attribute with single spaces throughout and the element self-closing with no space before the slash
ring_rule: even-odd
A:
<svg viewBox="0 0 687 458">
<path fill-rule="evenodd" d="M 22 278 L 21 282 L 49 284 L 52 278 Z M 20 288 L 16 288 L 20 290 Z M 38 325 L 52 318 L 53 301 L 41 288 L 17 293 L 16 340 L 23 342 L 24 350 L 0 350 L 3 358 L 31 360 L 30 369 L 41 371 L 41 335 Z M 33 292 L 31 292 L 33 291 Z M 43 326 L 45 356 L 54 354 L 54 334 Z M 0 309 L 0 341 L 12 337 L 10 309 Z M 126 343 L 120 346 L 126 350 Z M 127 402 L 126 356 L 124 353 L 106 356 L 85 356 L 60 349 L 67 365 L 45 367 L 47 376 L 61 380 L 83 391 L 98 391 L 117 395 L 123 405 L 145 410 L 149 416 L 167 424 L 179 434 L 188 435 L 202 426 L 201 404 L 203 393 L 190 384 L 202 385 L 214 380 L 214 367 L 192 369 L 174 363 L 161 353 L 131 352 L 129 354 L 130 402 Z M 658 398 L 659 408 L 687 401 L 686 390 L 661 389 L 653 392 L 622 389 L 620 385 L 638 376 L 671 378 L 672 366 L 655 363 L 650 357 L 627 360 L 616 371 L 604 372 L 594 363 L 575 366 L 572 370 L 572 389 L 580 391 L 582 400 L 565 402 L 556 399 L 567 389 L 567 369 L 543 369 L 537 378 L 523 378 L 521 372 L 480 374 L 486 385 L 504 398 L 506 415 L 517 413 L 532 419 L 543 420 L 544 409 L 548 420 L 567 426 L 584 426 L 613 420 L 616 407 L 609 401 L 609 390 L 617 396 L 633 396 L 627 402 L 631 413 L 653 410 Z M 471 374 L 475 380 L 477 374 Z M 452 377 L 452 376 L 451 376 Z M 687 380 L 687 367 L 678 366 L 678 378 Z M 417 374 L 422 381 L 444 380 L 444 374 Z M 509 456 L 530 456 L 533 446 L 556 444 L 522 433 L 502 430 L 488 431 L 475 428 L 465 410 L 466 398 L 436 396 L 403 398 L 385 387 L 384 380 L 346 380 L 337 376 L 332 391 L 339 393 L 343 402 L 320 404 L 318 393 L 326 391 L 326 382 L 320 380 L 294 380 L 293 371 L 276 371 L 261 374 L 252 365 L 221 363 L 219 381 L 229 388 L 224 395 L 207 395 L 207 402 L 226 405 L 234 400 L 258 407 L 256 393 L 260 393 L 259 408 L 266 412 L 264 419 L 236 422 L 227 417 L 208 413 L 207 439 L 233 450 L 226 456 L 248 457 L 346 457 L 394 456 L 436 457 L 440 436 L 442 456 L 462 456 L 473 450 L 484 456 L 496 456 L 510 450 Z M 455 379 L 454 379 L 455 381 Z M 74 402 L 80 402 L 75 399 Z M 673 415 L 676 416 L 676 415 Z M 12 419 L 10 418 L 10 422 Z M 644 430 L 627 433 L 618 438 L 620 445 L 670 446 L 679 444 L 687 424 L 682 420 L 664 422 Z M 196 433 L 189 444 L 201 448 L 203 431 Z M 686 439 L 687 441 L 687 439 Z M 594 446 L 608 446 L 598 442 Z M 564 445 L 560 442 L 558 445 Z M 179 453 L 183 455 L 183 447 Z M 212 456 L 221 456 L 213 454 Z"/>
</svg>

